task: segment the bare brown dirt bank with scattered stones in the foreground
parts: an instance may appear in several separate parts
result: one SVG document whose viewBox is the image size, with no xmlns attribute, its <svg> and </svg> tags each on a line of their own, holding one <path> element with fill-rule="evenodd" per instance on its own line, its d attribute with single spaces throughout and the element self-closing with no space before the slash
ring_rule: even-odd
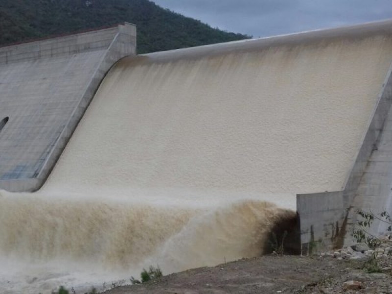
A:
<svg viewBox="0 0 392 294">
<path fill-rule="evenodd" d="M 331 256 L 262 256 L 186 270 L 156 281 L 112 289 L 107 294 L 223 293 L 392 293 L 392 257 L 379 260 L 382 272 L 363 269 L 366 259 Z M 344 283 L 355 281 L 347 290 Z"/>
</svg>

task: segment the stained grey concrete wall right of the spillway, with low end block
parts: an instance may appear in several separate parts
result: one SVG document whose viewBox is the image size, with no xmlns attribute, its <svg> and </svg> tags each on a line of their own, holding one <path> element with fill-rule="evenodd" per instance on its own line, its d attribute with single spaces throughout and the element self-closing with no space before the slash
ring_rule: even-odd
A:
<svg viewBox="0 0 392 294">
<path fill-rule="evenodd" d="M 392 26 L 391 23 L 379 25 L 375 34 L 385 33 L 385 29 Z M 351 245 L 358 209 L 392 214 L 391 72 L 392 66 L 380 85 L 380 95 L 342 190 L 297 195 L 303 253 Z M 385 229 L 386 224 L 376 220 L 368 231 L 377 235 Z"/>
</svg>

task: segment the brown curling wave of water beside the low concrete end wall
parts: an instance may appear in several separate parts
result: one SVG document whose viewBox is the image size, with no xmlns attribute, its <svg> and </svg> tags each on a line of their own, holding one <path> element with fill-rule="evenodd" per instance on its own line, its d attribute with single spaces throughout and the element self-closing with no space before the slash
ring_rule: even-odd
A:
<svg viewBox="0 0 392 294">
<path fill-rule="evenodd" d="M 293 211 L 255 200 L 212 209 L 191 218 L 150 262 L 156 261 L 164 265 L 166 271 L 174 272 L 259 256 L 265 249 L 271 227 L 294 216 Z"/>
</svg>

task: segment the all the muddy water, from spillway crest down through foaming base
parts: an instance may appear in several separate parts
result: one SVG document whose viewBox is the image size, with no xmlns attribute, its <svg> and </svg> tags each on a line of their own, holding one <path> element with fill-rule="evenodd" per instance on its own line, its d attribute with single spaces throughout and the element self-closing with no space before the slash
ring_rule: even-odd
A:
<svg viewBox="0 0 392 294">
<path fill-rule="evenodd" d="M 296 193 L 341 189 L 391 40 L 246 42 L 112 68 L 45 186 L 0 192 L 0 292 L 255 256 Z"/>
</svg>

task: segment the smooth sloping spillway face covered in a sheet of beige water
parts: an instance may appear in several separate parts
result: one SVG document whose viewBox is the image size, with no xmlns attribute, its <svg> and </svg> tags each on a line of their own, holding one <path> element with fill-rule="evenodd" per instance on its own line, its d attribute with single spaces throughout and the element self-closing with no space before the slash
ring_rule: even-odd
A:
<svg viewBox="0 0 392 294">
<path fill-rule="evenodd" d="M 372 37 L 198 58 L 175 51 L 124 58 L 103 81 L 45 190 L 338 190 L 391 64 L 391 46 Z"/>
</svg>

